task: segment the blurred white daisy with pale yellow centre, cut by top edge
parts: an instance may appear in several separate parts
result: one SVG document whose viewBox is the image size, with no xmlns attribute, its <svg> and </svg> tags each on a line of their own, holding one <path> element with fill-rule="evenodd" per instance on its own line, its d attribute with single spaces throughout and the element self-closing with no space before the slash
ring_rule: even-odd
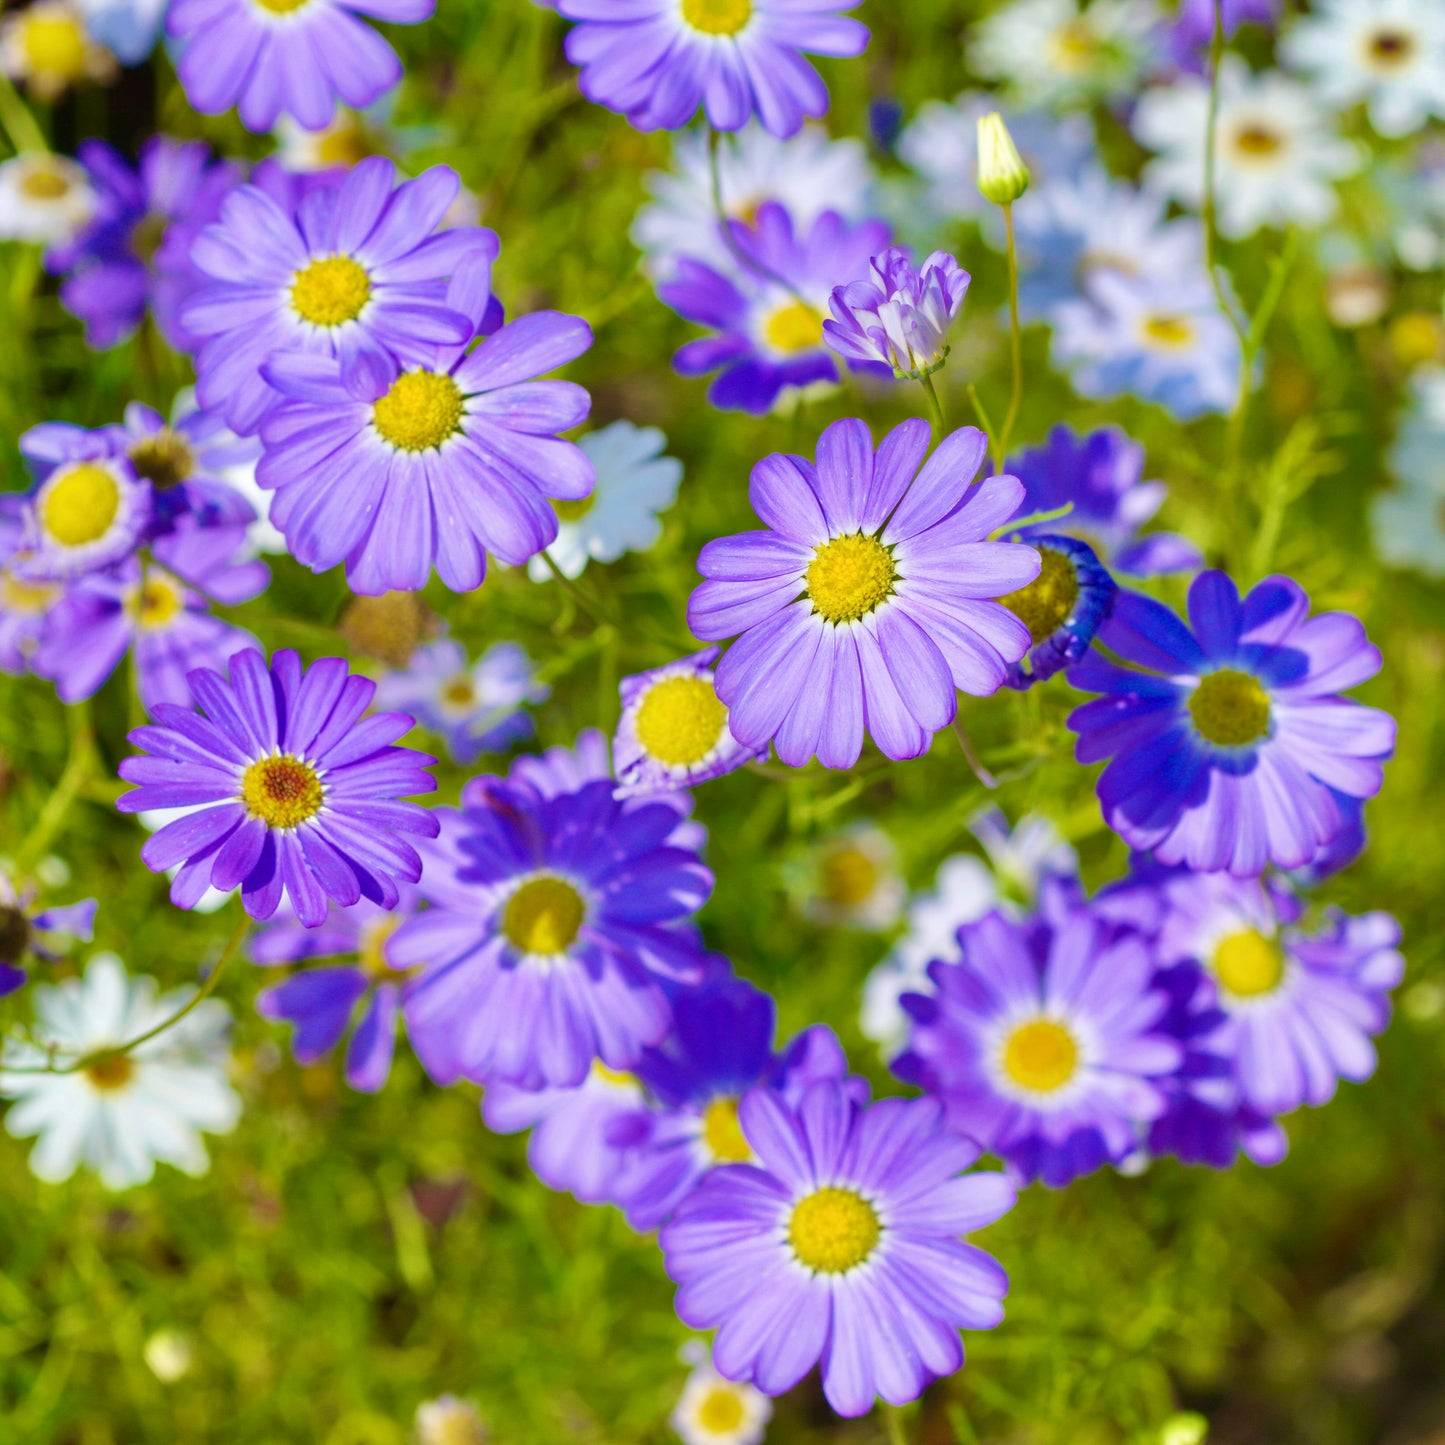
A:
<svg viewBox="0 0 1445 1445">
<path fill-rule="evenodd" d="M 972 32 L 968 59 L 1026 104 L 1087 105 L 1133 87 L 1159 23 L 1152 0 L 1014 0 Z"/>
</svg>

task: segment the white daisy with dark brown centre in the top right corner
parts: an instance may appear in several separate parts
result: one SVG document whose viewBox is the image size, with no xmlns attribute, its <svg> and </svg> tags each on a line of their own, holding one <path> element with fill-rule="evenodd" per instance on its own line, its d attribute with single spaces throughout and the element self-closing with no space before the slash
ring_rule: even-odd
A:
<svg viewBox="0 0 1445 1445">
<path fill-rule="evenodd" d="M 1364 101 L 1381 136 L 1445 118 L 1445 9 L 1420 0 L 1322 0 L 1279 42 L 1337 110 Z"/>
</svg>

